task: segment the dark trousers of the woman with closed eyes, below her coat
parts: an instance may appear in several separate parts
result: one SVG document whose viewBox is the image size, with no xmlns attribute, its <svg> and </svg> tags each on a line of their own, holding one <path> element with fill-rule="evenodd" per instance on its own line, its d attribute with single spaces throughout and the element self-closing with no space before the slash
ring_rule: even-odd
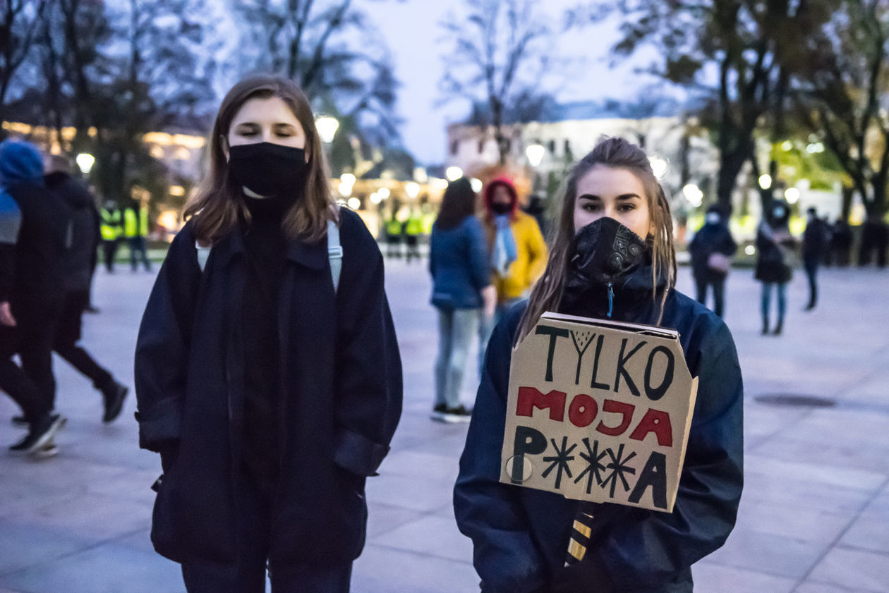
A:
<svg viewBox="0 0 889 593">
<path fill-rule="evenodd" d="M 238 560 L 235 565 L 185 563 L 188 593 L 263 593 L 271 533 L 273 483 L 242 476 L 238 497 Z M 307 545 L 311 545 L 307 543 Z M 272 593 L 348 593 L 352 563 L 268 566 Z"/>
</svg>

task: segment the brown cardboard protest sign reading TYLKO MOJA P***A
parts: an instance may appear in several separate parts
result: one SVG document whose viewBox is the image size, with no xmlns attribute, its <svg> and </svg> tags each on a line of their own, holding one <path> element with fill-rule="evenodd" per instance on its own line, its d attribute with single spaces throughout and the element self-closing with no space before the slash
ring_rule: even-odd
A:
<svg viewBox="0 0 889 593">
<path fill-rule="evenodd" d="M 501 482 L 672 512 L 697 391 L 677 332 L 544 313 L 512 352 Z"/>
</svg>

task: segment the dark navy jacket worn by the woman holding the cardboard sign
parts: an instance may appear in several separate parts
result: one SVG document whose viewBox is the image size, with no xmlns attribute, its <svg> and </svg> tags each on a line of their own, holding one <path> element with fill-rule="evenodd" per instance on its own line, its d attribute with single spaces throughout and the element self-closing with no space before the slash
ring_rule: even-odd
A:
<svg viewBox="0 0 889 593">
<path fill-rule="evenodd" d="M 651 268 L 615 292 L 613 318 L 654 324 Z M 607 291 L 592 290 L 581 307 L 562 312 L 605 317 Z M 601 292 L 601 294 L 599 294 Z M 454 510 L 475 545 L 486 593 L 688 593 L 691 565 L 718 549 L 732 531 L 743 482 L 743 389 L 728 328 L 709 309 L 670 290 L 662 326 L 680 334 L 685 360 L 699 378 L 685 465 L 672 513 L 595 505 L 590 544 L 565 568 L 580 503 L 499 482 L 513 336 L 520 304 L 494 330 L 469 425 Z"/>
</svg>

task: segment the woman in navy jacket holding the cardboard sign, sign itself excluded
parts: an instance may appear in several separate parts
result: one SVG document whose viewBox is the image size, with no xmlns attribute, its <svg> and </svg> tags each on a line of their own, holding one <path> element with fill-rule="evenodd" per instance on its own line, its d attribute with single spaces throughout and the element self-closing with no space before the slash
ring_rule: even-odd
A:
<svg viewBox="0 0 889 593">
<path fill-rule="evenodd" d="M 732 335 L 673 287 L 669 203 L 641 148 L 600 140 L 564 188 L 547 270 L 488 345 L 454 487 L 457 523 L 472 538 L 485 593 L 687 593 L 691 566 L 725 542 L 741 499 L 743 389 Z M 672 513 L 501 484 L 510 354 L 548 310 L 680 334 L 699 384 Z"/>
</svg>

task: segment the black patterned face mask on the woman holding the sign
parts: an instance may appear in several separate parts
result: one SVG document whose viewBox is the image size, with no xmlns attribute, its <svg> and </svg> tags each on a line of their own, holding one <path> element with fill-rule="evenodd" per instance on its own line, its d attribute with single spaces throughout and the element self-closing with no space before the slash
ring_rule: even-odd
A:
<svg viewBox="0 0 889 593">
<path fill-rule="evenodd" d="M 615 283 L 644 264 L 650 252 L 643 239 L 617 220 L 593 220 L 574 236 L 565 290 L 583 292 L 591 284 Z"/>
</svg>

